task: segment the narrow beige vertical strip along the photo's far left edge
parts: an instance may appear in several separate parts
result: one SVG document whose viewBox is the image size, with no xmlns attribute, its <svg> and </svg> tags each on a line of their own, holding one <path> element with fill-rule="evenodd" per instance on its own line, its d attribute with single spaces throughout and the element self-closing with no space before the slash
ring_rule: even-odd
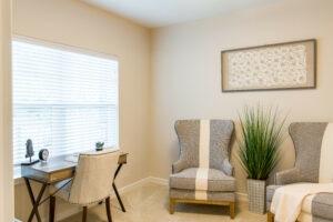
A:
<svg viewBox="0 0 333 222">
<path fill-rule="evenodd" d="M 11 149 L 11 2 L 0 1 L 0 221 L 13 221 Z"/>
</svg>

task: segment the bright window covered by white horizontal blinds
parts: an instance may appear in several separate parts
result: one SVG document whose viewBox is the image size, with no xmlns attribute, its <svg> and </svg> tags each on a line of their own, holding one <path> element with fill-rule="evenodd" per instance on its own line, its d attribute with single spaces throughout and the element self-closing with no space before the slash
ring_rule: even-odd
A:
<svg viewBox="0 0 333 222">
<path fill-rule="evenodd" d="M 51 157 L 118 145 L 118 61 L 111 56 L 17 38 L 12 41 L 13 162 L 26 142 Z"/>
</svg>

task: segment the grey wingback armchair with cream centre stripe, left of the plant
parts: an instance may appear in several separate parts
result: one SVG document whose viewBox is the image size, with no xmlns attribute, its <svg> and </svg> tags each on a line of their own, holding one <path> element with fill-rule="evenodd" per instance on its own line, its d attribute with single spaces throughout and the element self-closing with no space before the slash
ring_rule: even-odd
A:
<svg viewBox="0 0 333 222">
<path fill-rule="evenodd" d="M 170 213 L 175 202 L 229 205 L 234 218 L 235 179 L 229 162 L 230 120 L 179 120 L 180 158 L 170 175 Z"/>
</svg>

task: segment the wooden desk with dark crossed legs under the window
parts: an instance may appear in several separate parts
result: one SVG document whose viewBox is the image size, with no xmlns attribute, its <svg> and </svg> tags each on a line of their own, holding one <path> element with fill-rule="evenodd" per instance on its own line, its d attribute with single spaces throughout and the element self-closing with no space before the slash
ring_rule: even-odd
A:
<svg viewBox="0 0 333 222">
<path fill-rule="evenodd" d="M 118 160 L 118 168 L 114 173 L 113 183 L 112 183 L 114 193 L 117 195 L 117 199 L 123 212 L 125 212 L 125 209 L 118 193 L 118 189 L 115 186 L 114 180 L 122 165 L 127 163 L 128 154 L 129 153 L 120 153 Z M 64 160 L 64 158 L 53 158 L 50 159 L 48 162 L 39 162 L 33 165 L 21 165 L 21 175 L 24 179 L 30 195 L 30 200 L 33 205 L 28 222 L 32 221 L 34 214 L 37 216 L 37 220 L 41 222 L 38 206 L 49 199 L 48 196 L 46 200 L 41 201 L 46 188 L 51 183 L 72 178 L 74 175 L 77 164 L 78 164 L 77 162 L 67 161 Z M 30 180 L 37 181 L 42 184 L 37 198 L 33 195 Z"/>
</svg>

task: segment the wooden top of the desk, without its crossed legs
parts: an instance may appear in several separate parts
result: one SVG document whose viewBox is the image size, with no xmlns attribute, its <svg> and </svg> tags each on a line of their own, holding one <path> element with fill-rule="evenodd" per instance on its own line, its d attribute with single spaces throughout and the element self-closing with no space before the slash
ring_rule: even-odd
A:
<svg viewBox="0 0 333 222">
<path fill-rule="evenodd" d="M 127 155 L 128 153 L 120 153 L 118 164 L 127 163 Z M 53 183 L 72 178 L 77 164 L 77 162 L 64 160 L 63 157 L 51 158 L 47 162 L 21 165 L 21 175 L 42 183 Z"/>
</svg>

